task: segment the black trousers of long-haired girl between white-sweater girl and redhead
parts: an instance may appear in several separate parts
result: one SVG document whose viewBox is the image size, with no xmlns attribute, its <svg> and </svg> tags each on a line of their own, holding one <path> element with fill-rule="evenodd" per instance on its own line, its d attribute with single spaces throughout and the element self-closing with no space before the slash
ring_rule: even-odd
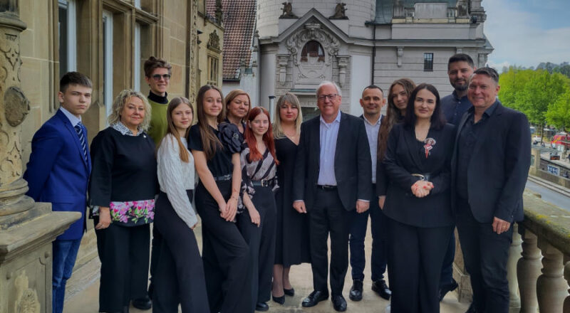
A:
<svg viewBox="0 0 570 313">
<path fill-rule="evenodd" d="M 232 181 L 216 183 L 227 201 L 232 194 Z M 236 223 L 219 216 L 217 202 L 202 183 L 196 188 L 195 200 L 202 218 L 202 262 L 210 311 L 253 312 L 251 298 L 244 294 L 244 290 L 252 288 L 247 243 Z"/>
</svg>

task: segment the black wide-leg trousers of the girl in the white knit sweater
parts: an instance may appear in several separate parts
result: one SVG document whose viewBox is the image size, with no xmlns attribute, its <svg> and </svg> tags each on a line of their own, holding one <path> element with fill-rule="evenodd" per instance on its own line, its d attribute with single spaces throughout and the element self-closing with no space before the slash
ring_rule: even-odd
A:
<svg viewBox="0 0 570 313">
<path fill-rule="evenodd" d="M 187 195 L 192 200 L 191 190 Z M 177 313 L 180 303 L 183 313 L 209 313 L 204 265 L 194 231 L 163 192 L 156 202 L 155 229 L 162 244 L 156 260 L 152 312 Z"/>
</svg>

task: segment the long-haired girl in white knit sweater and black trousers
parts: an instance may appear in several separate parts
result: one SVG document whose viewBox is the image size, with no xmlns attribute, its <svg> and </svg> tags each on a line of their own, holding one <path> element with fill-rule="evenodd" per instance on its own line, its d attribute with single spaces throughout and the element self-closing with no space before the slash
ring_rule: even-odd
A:
<svg viewBox="0 0 570 313">
<path fill-rule="evenodd" d="M 157 152 L 160 194 L 156 202 L 155 228 L 162 243 L 154 272 L 154 313 L 209 313 L 204 265 L 194 228 L 198 219 L 192 208 L 194 158 L 187 136 L 194 112 L 185 97 L 175 97 L 167 107 L 167 133 Z"/>
</svg>

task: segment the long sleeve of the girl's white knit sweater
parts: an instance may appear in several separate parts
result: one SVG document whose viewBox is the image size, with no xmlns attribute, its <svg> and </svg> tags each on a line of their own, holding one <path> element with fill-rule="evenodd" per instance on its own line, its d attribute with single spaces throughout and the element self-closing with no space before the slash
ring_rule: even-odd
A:
<svg viewBox="0 0 570 313">
<path fill-rule="evenodd" d="M 180 159 L 180 149 L 178 143 L 172 135 L 168 135 L 162 139 L 162 144 L 158 149 L 158 154 L 160 155 L 160 162 L 158 166 L 160 167 L 160 172 L 162 174 L 162 182 L 164 186 L 162 189 L 165 190 L 170 204 L 174 211 L 182 218 L 182 221 L 186 223 L 189 228 L 195 226 L 198 219 L 194 208 L 192 208 L 192 203 L 188 199 L 184 181 L 189 179 L 189 177 L 184 177 L 182 175 L 182 160 Z"/>
</svg>

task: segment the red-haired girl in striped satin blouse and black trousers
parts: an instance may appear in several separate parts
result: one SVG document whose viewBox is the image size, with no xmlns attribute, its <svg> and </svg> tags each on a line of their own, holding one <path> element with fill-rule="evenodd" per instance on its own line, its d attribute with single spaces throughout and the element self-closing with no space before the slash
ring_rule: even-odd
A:
<svg viewBox="0 0 570 313">
<path fill-rule="evenodd" d="M 275 260 L 275 196 L 277 186 L 275 143 L 269 112 L 254 107 L 247 116 L 242 164 L 243 204 L 237 225 L 249 245 L 252 262 L 252 303 L 256 311 L 267 311 Z"/>
</svg>

